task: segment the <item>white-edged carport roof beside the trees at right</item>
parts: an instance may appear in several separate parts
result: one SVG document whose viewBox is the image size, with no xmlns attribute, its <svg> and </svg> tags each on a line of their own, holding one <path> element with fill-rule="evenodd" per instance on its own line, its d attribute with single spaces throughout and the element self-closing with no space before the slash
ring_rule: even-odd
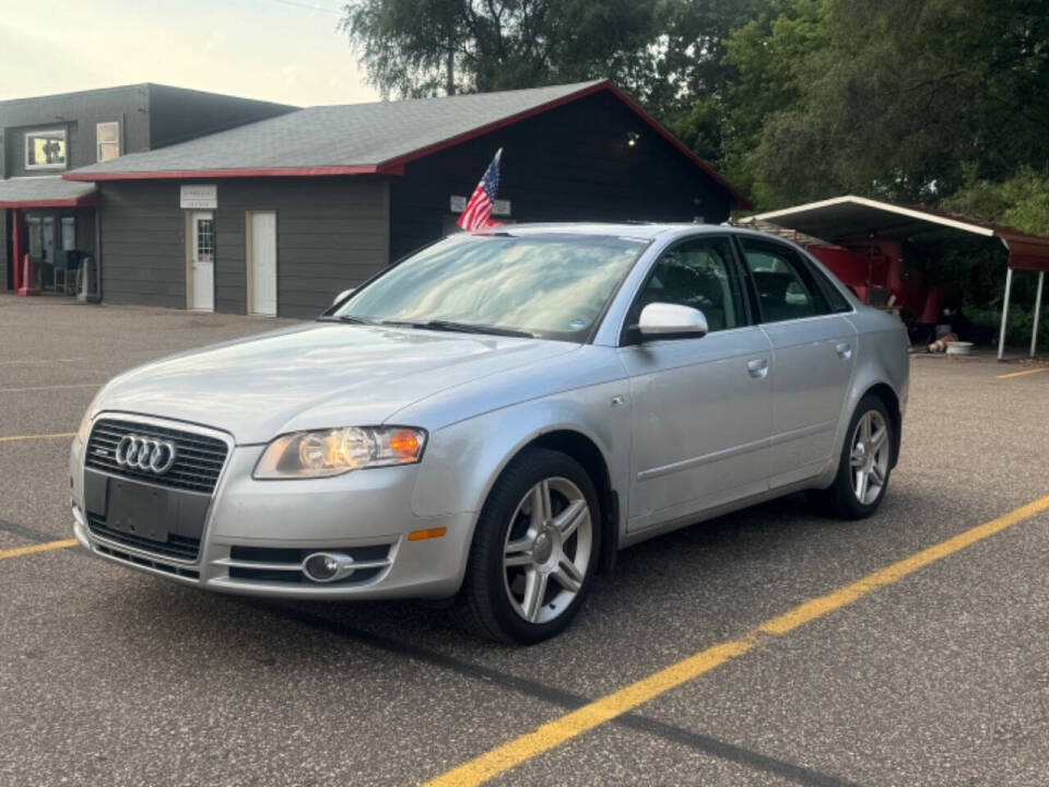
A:
<svg viewBox="0 0 1049 787">
<path fill-rule="evenodd" d="M 759 213 L 744 219 L 743 223 L 755 221 L 795 230 L 842 246 L 872 237 L 918 245 L 963 235 L 998 238 L 1009 251 L 1010 268 L 1049 271 L 1049 238 L 930 208 L 847 196 Z"/>
</svg>

